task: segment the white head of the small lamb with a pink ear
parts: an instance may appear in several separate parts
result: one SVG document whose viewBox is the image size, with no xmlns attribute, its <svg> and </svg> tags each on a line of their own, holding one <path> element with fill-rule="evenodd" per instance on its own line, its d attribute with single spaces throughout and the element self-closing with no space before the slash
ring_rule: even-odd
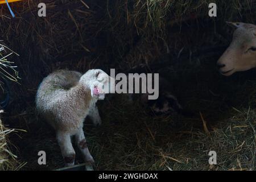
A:
<svg viewBox="0 0 256 182">
<path fill-rule="evenodd" d="M 89 71 L 82 75 L 80 82 L 90 89 L 92 97 L 99 100 L 104 100 L 105 94 L 113 93 L 115 87 L 114 78 L 101 69 L 89 69 Z"/>
</svg>

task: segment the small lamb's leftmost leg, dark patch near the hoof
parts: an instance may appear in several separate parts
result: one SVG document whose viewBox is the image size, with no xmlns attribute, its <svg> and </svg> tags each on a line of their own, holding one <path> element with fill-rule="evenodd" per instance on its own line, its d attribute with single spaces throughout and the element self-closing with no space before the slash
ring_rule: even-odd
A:
<svg viewBox="0 0 256 182">
<path fill-rule="evenodd" d="M 71 143 L 71 137 L 67 133 L 57 132 L 57 141 L 60 146 L 65 166 L 73 166 L 75 163 L 75 150 Z"/>
</svg>

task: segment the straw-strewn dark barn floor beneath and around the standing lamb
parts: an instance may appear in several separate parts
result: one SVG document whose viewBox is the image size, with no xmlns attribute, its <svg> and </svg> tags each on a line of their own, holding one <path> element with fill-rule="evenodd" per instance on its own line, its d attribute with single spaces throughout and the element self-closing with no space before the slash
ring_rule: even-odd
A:
<svg viewBox="0 0 256 182">
<path fill-rule="evenodd" d="M 181 104 L 195 113 L 192 117 L 175 113 L 152 116 L 139 101 L 128 102 L 125 95 L 98 102 L 102 125 L 85 125 L 96 169 L 255 170 L 255 71 L 223 77 L 215 63 L 215 58 L 205 59 L 194 69 L 183 65 L 176 72 L 164 70 Z M 31 92 L 35 94 L 36 88 Z M 19 160 L 27 162 L 22 169 L 63 167 L 54 131 L 36 119 L 34 98 L 26 106 L 12 105 L 10 117 L 4 119 L 11 127 L 27 130 L 10 138 L 18 148 Z M 40 150 L 46 151 L 46 166 L 38 164 Z M 211 150 L 217 152 L 214 166 L 208 163 Z M 82 162 L 79 152 L 76 162 Z"/>
</svg>

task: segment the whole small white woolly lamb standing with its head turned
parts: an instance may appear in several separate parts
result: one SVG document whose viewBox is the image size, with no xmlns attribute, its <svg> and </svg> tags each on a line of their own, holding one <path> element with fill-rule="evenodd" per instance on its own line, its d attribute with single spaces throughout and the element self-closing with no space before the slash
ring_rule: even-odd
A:
<svg viewBox="0 0 256 182">
<path fill-rule="evenodd" d="M 66 166 L 75 162 L 75 150 L 71 143 L 73 135 L 85 162 L 94 163 L 82 127 L 86 116 L 92 119 L 94 125 L 101 124 L 96 102 L 104 100 L 109 88 L 113 89 L 114 82 L 110 80 L 111 77 L 101 69 L 90 69 L 84 75 L 59 70 L 48 75 L 40 84 L 36 109 L 55 129 Z"/>
</svg>

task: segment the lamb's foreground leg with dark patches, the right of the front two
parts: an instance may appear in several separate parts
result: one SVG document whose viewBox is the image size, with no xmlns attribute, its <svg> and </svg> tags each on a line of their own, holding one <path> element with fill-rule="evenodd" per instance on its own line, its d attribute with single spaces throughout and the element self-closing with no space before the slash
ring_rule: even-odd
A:
<svg viewBox="0 0 256 182">
<path fill-rule="evenodd" d="M 75 135 L 75 138 L 76 138 L 76 144 L 82 152 L 82 156 L 84 158 L 84 161 L 93 164 L 94 160 L 93 160 L 92 155 L 90 155 L 90 152 L 89 152 L 89 149 L 88 149 L 85 137 L 84 137 L 84 131 L 82 130 L 82 127 L 79 130 L 79 132 Z"/>
</svg>

